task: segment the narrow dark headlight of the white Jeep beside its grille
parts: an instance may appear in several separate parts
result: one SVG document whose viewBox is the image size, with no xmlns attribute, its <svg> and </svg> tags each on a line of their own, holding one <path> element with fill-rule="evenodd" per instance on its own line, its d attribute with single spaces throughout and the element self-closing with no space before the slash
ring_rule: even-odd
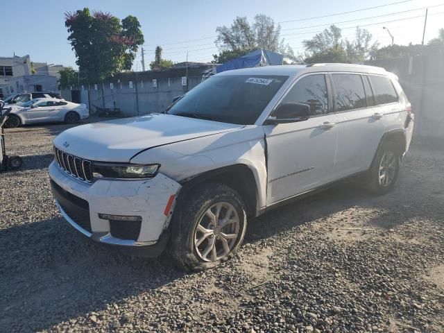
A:
<svg viewBox="0 0 444 333">
<path fill-rule="evenodd" d="M 157 175 L 160 164 L 108 164 L 94 163 L 94 178 L 140 179 L 152 178 Z"/>
</svg>

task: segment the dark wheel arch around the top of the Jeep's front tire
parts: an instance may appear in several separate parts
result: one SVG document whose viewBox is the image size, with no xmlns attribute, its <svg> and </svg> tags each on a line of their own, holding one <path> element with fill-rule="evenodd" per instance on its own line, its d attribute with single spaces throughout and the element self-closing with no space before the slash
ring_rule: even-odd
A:
<svg viewBox="0 0 444 333">
<path fill-rule="evenodd" d="M 249 216 L 255 216 L 258 211 L 259 191 L 253 170 L 247 164 L 233 164 L 226 167 L 220 167 L 210 171 L 205 171 L 192 178 L 180 182 L 182 189 L 178 196 L 178 205 L 184 198 L 196 187 L 207 182 L 219 182 L 231 187 L 239 193 L 246 205 L 246 212 Z"/>
</svg>

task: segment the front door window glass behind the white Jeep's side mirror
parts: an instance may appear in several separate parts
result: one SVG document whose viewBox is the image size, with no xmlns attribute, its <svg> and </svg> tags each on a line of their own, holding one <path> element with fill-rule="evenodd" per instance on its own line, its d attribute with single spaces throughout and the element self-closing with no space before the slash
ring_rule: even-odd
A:
<svg viewBox="0 0 444 333">
<path fill-rule="evenodd" d="M 282 103 L 287 102 L 309 105 L 312 116 L 328 113 L 328 95 L 325 75 L 316 74 L 301 78 L 298 83 L 291 88 L 287 96 L 284 97 Z"/>
</svg>

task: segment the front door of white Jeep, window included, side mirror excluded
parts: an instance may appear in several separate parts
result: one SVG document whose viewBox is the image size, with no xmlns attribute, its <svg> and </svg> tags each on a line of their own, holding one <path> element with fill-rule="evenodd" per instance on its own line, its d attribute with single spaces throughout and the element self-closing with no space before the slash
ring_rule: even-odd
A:
<svg viewBox="0 0 444 333">
<path fill-rule="evenodd" d="M 336 115 L 325 74 L 298 79 L 281 103 L 305 103 L 305 121 L 266 125 L 267 205 L 301 194 L 335 179 Z"/>
</svg>

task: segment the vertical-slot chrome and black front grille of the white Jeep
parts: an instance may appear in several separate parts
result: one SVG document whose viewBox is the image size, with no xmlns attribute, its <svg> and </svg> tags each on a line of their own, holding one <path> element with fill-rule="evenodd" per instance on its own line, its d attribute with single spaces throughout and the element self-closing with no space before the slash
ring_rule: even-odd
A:
<svg viewBox="0 0 444 333">
<path fill-rule="evenodd" d="M 78 178 L 84 182 L 92 182 L 91 161 L 70 155 L 65 151 L 61 151 L 59 148 L 53 148 L 54 157 L 60 169 L 74 178 Z"/>
</svg>

